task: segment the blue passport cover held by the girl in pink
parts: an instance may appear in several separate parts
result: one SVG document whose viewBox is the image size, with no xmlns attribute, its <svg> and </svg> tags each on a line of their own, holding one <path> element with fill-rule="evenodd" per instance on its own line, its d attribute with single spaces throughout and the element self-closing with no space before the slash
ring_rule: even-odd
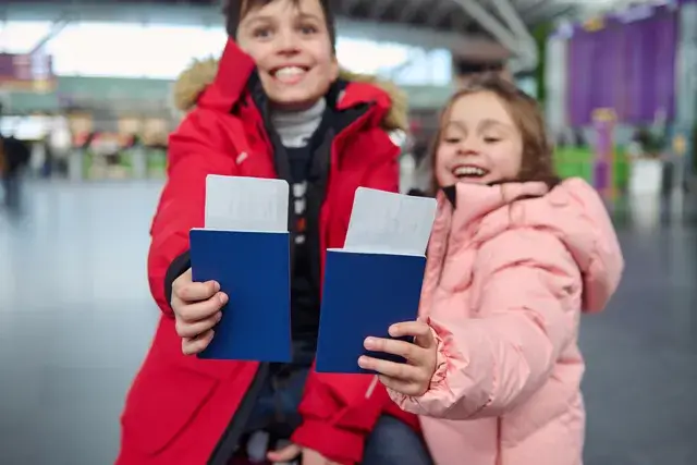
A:
<svg viewBox="0 0 697 465">
<path fill-rule="evenodd" d="M 366 351 L 368 335 L 390 338 L 391 325 L 418 316 L 426 257 L 327 250 L 317 342 L 317 372 L 368 374 L 358 357 L 404 362 Z"/>
</svg>

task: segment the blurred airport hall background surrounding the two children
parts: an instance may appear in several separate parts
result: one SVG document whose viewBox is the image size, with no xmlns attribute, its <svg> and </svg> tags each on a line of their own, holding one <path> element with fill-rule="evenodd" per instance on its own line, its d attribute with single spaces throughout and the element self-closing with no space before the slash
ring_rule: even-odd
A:
<svg viewBox="0 0 697 465">
<path fill-rule="evenodd" d="M 697 1 L 335 3 L 341 65 L 408 96 L 403 192 L 470 76 L 538 99 L 627 264 L 582 328 L 586 464 L 697 464 Z M 173 84 L 225 40 L 216 0 L 0 3 L 0 463 L 113 462 L 159 316 L 145 260 Z"/>
</svg>

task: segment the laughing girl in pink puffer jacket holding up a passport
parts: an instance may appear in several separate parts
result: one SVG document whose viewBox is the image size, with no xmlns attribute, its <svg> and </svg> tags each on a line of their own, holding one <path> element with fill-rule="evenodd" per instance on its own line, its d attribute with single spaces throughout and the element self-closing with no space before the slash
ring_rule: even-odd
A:
<svg viewBox="0 0 697 465">
<path fill-rule="evenodd" d="M 362 357 L 421 415 L 439 465 L 579 465 L 582 310 L 600 311 L 623 268 L 585 182 L 559 182 L 536 102 L 490 76 L 456 94 L 432 154 L 439 210 L 420 321 L 368 338 L 405 357 Z"/>
</svg>

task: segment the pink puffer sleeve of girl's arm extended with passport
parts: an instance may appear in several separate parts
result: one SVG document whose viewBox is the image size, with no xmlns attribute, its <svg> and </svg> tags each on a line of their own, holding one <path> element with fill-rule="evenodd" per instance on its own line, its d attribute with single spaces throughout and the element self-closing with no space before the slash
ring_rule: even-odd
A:
<svg viewBox="0 0 697 465">
<path fill-rule="evenodd" d="M 481 274 L 475 277 L 481 317 L 430 320 L 439 342 L 430 389 L 419 397 L 390 392 L 407 412 L 454 420 L 500 416 L 545 384 L 577 333 L 580 271 L 551 232 L 506 231 L 482 245 L 474 270 Z"/>
</svg>

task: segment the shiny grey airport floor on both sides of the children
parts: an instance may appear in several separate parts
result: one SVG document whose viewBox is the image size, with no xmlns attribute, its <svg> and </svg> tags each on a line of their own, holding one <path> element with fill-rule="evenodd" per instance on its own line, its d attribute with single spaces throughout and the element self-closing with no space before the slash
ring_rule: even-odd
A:
<svg viewBox="0 0 697 465">
<path fill-rule="evenodd" d="M 145 256 L 159 187 L 35 184 L 22 221 L 0 215 L 1 464 L 113 462 L 158 317 Z M 697 222 L 619 217 L 624 283 L 583 326 L 586 465 L 694 465 Z"/>
</svg>

